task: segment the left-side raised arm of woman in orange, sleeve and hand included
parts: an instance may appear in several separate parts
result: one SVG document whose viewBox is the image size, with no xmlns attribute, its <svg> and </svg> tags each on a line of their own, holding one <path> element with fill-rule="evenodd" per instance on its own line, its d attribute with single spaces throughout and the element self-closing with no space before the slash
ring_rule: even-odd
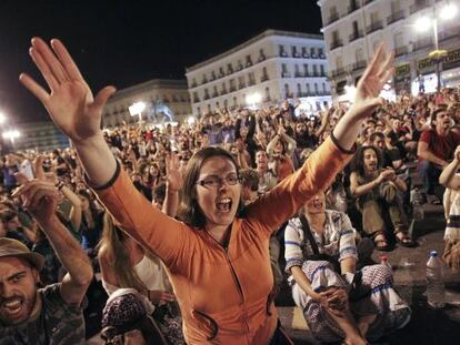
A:
<svg viewBox="0 0 460 345">
<path fill-rule="evenodd" d="M 50 92 L 27 74 L 20 81 L 47 108 L 56 125 L 71 139 L 89 183 L 117 224 L 142 246 L 172 265 L 182 260 L 186 226 L 166 216 L 146 200 L 120 169 L 100 130 L 102 108 L 116 91 L 102 89 L 96 98 L 76 63 L 59 40 L 51 48 L 39 38 L 32 39 L 30 54 L 43 75 Z"/>
</svg>

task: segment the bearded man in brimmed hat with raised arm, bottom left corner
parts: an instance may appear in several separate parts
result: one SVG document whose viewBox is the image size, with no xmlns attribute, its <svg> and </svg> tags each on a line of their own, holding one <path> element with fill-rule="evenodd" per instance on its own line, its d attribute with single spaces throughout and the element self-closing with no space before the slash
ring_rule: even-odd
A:
<svg viewBox="0 0 460 345">
<path fill-rule="evenodd" d="M 44 258 L 12 239 L 0 239 L 0 345 L 84 344 L 81 303 L 92 280 L 88 256 L 59 221 L 58 189 L 26 182 L 13 193 L 47 234 L 62 266 L 62 282 L 37 288 Z"/>
</svg>

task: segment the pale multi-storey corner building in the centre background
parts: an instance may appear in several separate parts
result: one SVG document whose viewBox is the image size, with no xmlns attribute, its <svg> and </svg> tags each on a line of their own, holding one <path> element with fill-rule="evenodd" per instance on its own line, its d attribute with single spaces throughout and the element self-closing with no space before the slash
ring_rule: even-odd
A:
<svg viewBox="0 0 460 345">
<path fill-rule="evenodd" d="M 193 115 L 200 115 L 217 108 L 260 106 L 292 98 L 321 108 L 331 101 L 327 72 L 321 34 L 267 30 L 187 68 L 186 77 Z"/>
</svg>

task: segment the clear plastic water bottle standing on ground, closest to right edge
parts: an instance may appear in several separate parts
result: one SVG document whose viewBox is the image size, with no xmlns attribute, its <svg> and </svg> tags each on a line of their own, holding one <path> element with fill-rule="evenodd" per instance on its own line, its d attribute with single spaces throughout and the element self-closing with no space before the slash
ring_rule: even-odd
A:
<svg viewBox="0 0 460 345">
<path fill-rule="evenodd" d="M 427 262 L 428 304 L 433 308 L 442 308 L 446 303 L 444 294 L 444 267 L 438 257 L 438 252 L 431 251 Z"/>
</svg>

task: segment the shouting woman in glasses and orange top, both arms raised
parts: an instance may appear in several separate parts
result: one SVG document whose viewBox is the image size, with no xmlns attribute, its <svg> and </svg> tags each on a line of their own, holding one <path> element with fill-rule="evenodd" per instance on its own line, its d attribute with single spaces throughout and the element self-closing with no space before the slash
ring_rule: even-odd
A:
<svg viewBox="0 0 460 345">
<path fill-rule="evenodd" d="M 120 229 L 166 264 L 182 311 L 186 342 L 289 342 L 270 296 L 270 234 L 349 162 L 362 120 L 381 104 L 378 95 L 391 74 L 391 54 L 379 47 L 359 81 L 353 106 L 332 135 L 301 169 L 248 207 L 241 207 L 241 185 L 231 154 L 216 148 L 197 152 L 184 175 L 183 222 L 153 209 L 107 145 L 100 122 L 114 88 L 107 87 L 93 98 L 59 40 L 52 40 L 50 48 L 34 38 L 30 54 L 51 93 L 27 74 L 21 74 L 21 82 L 72 140 L 88 183 Z M 349 339 L 354 336 L 350 334 Z"/>
</svg>

